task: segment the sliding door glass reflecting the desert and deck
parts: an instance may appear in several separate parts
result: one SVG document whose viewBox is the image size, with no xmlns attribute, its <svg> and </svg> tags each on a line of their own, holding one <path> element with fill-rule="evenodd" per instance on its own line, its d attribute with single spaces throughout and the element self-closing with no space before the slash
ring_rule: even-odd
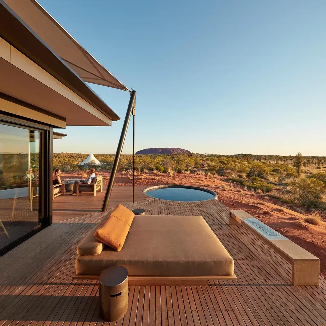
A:
<svg viewBox="0 0 326 326">
<path fill-rule="evenodd" d="M 0 249 L 39 225 L 40 132 L 0 124 Z"/>
</svg>

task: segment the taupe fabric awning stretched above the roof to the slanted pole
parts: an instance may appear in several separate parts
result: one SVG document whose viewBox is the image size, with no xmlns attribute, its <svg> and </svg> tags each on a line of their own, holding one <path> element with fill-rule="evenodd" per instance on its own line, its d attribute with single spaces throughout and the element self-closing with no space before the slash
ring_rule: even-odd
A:
<svg viewBox="0 0 326 326">
<path fill-rule="evenodd" d="M 96 61 L 35 0 L 4 0 L 5 3 L 85 82 L 128 88 Z"/>
</svg>

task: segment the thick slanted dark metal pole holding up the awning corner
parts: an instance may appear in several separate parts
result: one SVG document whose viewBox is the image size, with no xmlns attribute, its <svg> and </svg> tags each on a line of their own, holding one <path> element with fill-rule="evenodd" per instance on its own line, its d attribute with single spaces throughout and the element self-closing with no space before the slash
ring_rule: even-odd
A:
<svg viewBox="0 0 326 326">
<path fill-rule="evenodd" d="M 108 209 L 108 204 L 109 204 L 109 200 L 111 197 L 115 174 L 118 169 L 119 160 L 120 160 L 120 156 L 122 153 L 122 148 L 125 143 L 125 138 L 126 138 L 129 121 L 130 121 L 130 116 L 131 116 L 131 113 L 132 113 L 133 109 L 135 108 L 135 106 L 136 106 L 136 91 L 132 91 L 130 94 L 129 105 L 128 105 L 128 109 L 126 112 L 125 122 L 122 127 L 122 131 L 121 131 L 121 135 L 120 135 L 120 139 L 119 139 L 119 143 L 118 143 L 118 147 L 117 147 L 117 152 L 115 153 L 115 156 L 114 156 L 114 161 L 113 161 L 112 170 L 111 170 L 111 174 L 110 174 L 109 184 L 108 184 L 108 187 L 106 188 L 106 192 L 104 195 L 101 212 L 105 212 Z"/>
</svg>

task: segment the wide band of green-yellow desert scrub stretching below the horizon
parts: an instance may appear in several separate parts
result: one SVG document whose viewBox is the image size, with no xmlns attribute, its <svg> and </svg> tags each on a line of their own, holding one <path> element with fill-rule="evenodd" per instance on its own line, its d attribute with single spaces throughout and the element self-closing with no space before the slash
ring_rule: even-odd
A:
<svg viewBox="0 0 326 326">
<path fill-rule="evenodd" d="M 104 164 L 97 170 L 111 170 L 114 155 L 95 154 Z M 78 166 L 87 154 L 53 154 L 53 169 L 80 171 Z M 90 164 L 88 167 L 92 166 Z M 122 155 L 119 169 L 130 176 L 132 155 Z M 318 209 L 326 212 L 326 158 L 319 156 L 261 156 L 261 155 L 209 155 L 171 154 L 136 155 L 137 173 L 200 174 L 205 178 L 221 177 L 229 182 L 224 190 L 248 190 L 250 194 L 263 194 L 283 203 L 301 206 L 304 209 Z M 155 176 L 153 175 L 155 178 Z M 152 178 L 153 178 L 152 177 Z M 144 177 L 142 177 L 144 178 Z M 201 181 L 204 185 L 204 180 Z M 240 192 L 239 190 L 237 190 Z M 322 213 L 324 214 L 324 213 Z"/>
</svg>

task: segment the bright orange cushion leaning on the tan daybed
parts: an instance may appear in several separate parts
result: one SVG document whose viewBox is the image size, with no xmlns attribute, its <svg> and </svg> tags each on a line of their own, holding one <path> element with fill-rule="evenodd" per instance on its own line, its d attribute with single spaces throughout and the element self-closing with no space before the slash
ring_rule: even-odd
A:
<svg viewBox="0 0 326 326">
<path fill-rule="evenodd" d="M 118 204 L 110 216 L 95 231 L 94 237 L 109 247 L 120 251 L 125 243 L 134 216 L 133 212 Z"/>
</svg>

